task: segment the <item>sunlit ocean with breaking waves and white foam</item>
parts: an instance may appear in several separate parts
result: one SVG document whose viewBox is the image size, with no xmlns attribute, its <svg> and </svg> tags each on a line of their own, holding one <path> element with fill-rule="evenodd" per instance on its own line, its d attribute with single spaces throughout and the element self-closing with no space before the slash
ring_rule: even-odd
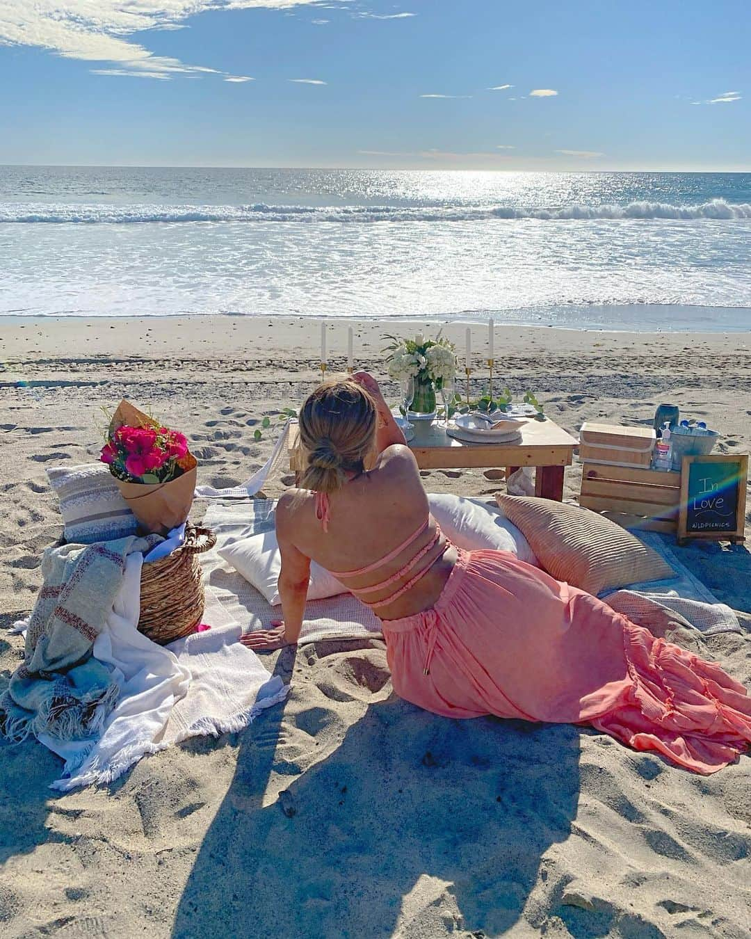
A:
<svg viewBox="0 0 751 939">
<path fill-rule="evenodd" d="M 751 173 L 0 166 L 0 316 L 751 329 Z"/>
</svg>

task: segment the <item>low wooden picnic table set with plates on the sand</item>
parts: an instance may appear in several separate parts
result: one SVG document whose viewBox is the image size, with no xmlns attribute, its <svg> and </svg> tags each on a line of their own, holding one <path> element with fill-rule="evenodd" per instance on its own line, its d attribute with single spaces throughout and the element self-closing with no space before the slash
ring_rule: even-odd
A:
<svg viewBox="0 0 751 939">
<path fill-rule="evenodd" d="M 409 448 L 420 469 L 494 469 L 505 467 L 507 476 L 519 467 L 536 467 L 535 495 L 563 499 L 563 471 L 574 460 L 578 445 L 570 434 L 549 418 L 529 421 L 516 443 L 465 443 L 449 437 L 439 423 L 415 421 Z M 290 440 L 290 469 L 303 467 L 296 461 L 297 427 Z"/>
</svg>

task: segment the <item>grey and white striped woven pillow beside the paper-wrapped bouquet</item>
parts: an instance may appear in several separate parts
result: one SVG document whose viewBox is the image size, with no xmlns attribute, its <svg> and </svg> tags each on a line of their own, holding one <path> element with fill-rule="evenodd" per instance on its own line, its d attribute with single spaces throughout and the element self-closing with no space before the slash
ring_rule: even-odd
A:
<svg viewBox="0 0 751 939">
<path fill-rule="evenodd" d="M 103 463 L 54 467 L 47 478 L 60 500 L 67 542 L 93 545 L 136 533 L 138 522 Z"/>
</svg>

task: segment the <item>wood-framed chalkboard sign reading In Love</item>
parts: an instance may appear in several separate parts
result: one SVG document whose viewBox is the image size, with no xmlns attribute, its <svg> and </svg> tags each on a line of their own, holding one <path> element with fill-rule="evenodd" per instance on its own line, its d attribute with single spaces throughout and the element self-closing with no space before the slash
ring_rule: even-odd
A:
<svg viewBox="0 0 751 939">
<path fill-rule="evenodd" d="M 679 544 L 687 538 L 743 541 L 747 456 L 684 456 Z"/>
</svg>

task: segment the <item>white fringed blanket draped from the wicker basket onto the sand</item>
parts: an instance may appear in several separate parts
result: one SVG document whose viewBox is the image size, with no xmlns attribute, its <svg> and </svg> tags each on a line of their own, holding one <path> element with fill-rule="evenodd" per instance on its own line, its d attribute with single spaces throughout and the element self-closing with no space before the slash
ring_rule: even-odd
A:
<svg viewBox="0 0 751 939">
<path fill-rule="evenodd" d="M 238 642 L 238 623 L 210 590 L 204 612 L 209 630 L 164 647 L 146 639 L 136 629 L 141 555 L 131 557 L 113 613 L 94 645 L 94 655 L 113 670 L 118 703 L 96 739 L 39 735 L 66 761 L 53 789 L 112 782 L 148 753 L 189 737 L 242 730 L 262 710 L 284 701 L 289 690 Z"/>
</svg>

